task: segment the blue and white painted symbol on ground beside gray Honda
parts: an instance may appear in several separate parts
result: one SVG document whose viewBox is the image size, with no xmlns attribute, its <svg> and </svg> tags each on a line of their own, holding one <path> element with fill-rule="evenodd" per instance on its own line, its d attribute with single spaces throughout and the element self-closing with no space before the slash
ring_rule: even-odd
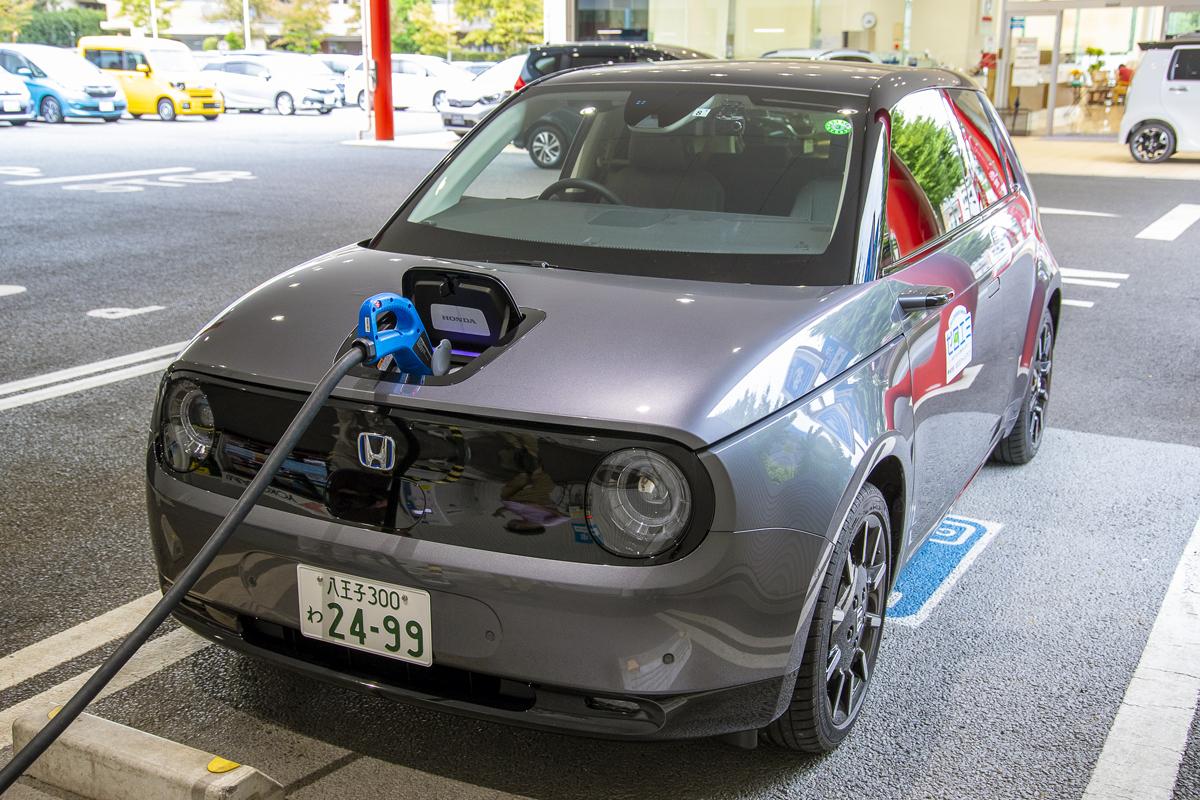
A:
<svg viewBox="0 0 1200 800">
<path fill-rule="evenodd" d="M 920 625 L 998 531 L 1000 523 L 995 522 L 942 519 L 892 588 L 888 620 Z"/>
</svg>

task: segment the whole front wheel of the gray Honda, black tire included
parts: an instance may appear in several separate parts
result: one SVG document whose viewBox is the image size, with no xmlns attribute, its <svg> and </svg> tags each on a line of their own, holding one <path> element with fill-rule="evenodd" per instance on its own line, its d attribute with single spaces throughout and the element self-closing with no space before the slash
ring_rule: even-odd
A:
<svg viewBox="0 0 1200 800">
<path fill-rule="evenodd" d="M 770 744 L 827 753 L 854 727 L 883 638 L 890 549 L 888 504 L 865 483 L 850 506 L 821 583 L 792 703 L 763 729 Z"/>
</svg>

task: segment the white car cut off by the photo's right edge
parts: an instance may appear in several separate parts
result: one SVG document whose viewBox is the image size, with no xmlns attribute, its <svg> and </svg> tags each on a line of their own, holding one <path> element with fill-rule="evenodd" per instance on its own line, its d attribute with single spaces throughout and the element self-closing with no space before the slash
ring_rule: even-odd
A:
<svg viewBox="0 0 1200 800">
<path fill-rule="evenodd" d="M 1153 164 L 1177 150 L 1200 150 L 1200 34 L 1142 42 L 1120 142 L 1134 160 Z"/>
</svg>

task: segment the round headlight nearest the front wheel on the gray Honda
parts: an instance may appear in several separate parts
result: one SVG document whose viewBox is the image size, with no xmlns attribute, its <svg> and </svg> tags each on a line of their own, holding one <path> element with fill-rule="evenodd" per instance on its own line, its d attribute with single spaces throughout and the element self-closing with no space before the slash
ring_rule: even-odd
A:
<svg viewBox="0 0 1200 800">
<path fill-rule="evenodd" d="M 610 453 L 588 481 L 592 536 L 610 553 L 649 558 L 674 547 L 691 521 L 691 488 L 666 456 L 631 447 Z"/>
</svg>

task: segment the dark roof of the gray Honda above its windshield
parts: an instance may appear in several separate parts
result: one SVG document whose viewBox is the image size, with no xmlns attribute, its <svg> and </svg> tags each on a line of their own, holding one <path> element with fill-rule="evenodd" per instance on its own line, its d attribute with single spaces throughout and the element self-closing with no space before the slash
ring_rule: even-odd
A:
<svg viewBox="0 0 1200 800">
<path fill-rule="evenodd" d="M 614 64 L 554 72 L 540 78 L 538 84 L 590 84 L 606 78 L 622 83 L 707 83 L 764 89 L 804 89 L 870 97 L 870 104 L 875 108 L 889 108 L 905 95 L 930 86 L 978 89 L 970 78 L 950 70 L 787 59 Z"/>
</svg>

